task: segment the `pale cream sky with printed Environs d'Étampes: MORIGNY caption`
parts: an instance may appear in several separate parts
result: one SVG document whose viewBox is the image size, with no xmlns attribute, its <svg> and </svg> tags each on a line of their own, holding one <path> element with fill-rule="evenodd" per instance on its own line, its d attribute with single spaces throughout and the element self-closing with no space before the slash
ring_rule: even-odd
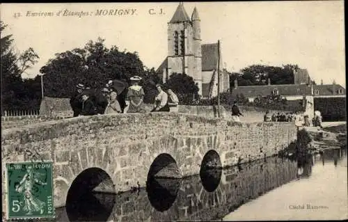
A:
<svg viewBox="0 0 348 222">
<path fill-rule="evenodd" d="M 84 47 L 98 37 L 105 39 L 107 47 L 137 51 L 145 66 L 157 69 L 168 53 L 167 23 L 177 5 L 3 3 L 0 16 L 8 25 L 4 33 L 13 35 L 15 48 L 33 47 L 40 56 L 23 76 L 35 77 L 56 53 Z M 239 72 L 253 64 L 290 63 L 307 69 L 317 84 L 321 79 L 324 84 L 335 80 L 345 87 L 344 1 L 184 2 L 190 17 L 195 6 L 202 43 L 221 41 L 228 71 Z M 129 13 L 122 15 L 120 10 Z"/>
</svg>

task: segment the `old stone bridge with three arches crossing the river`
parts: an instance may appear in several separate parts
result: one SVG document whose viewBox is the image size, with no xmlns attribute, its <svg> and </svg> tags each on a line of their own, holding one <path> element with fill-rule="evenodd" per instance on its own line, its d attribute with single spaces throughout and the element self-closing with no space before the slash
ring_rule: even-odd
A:
<svg viewBox="0 0 348 222">
<path fill-rule="evenodd" d="M 184 113 L 134 113 L 40 122 L 4 129 L 1 136 L 3 205 L 6 162 L 52 161 L 54 204 L 60 207 L 76 186 L 118 193 L 145 187 L 149 176 L 198 174 L 203 159 L 232 166 L 272 156 L 296 140 L 296 127 Z"/>
</svg>

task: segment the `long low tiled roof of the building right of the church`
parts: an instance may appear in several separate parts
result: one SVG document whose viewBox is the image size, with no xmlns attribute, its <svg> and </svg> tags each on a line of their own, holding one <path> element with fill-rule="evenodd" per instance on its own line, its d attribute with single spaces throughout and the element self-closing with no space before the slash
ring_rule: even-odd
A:
<svg viewBox="0 0 348 222">
<path fill-rule="evenodd" d="M 238 86 L 233 88 L 232 95 L 243 94 L 246 97 L 271 95 L 273 90 L 278 90 L 279 95 L 310 95 L 310 86 L 304 85 L 264 85 L 264 86 Z"/>
</svg>

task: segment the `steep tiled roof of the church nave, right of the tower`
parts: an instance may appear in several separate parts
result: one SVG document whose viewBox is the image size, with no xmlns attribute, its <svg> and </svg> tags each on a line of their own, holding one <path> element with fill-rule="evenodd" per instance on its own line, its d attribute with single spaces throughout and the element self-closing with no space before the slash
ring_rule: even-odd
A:
<svg viewBox="0 0 348 222">
<path fill-rule="evenodd" d="M 202 71 L 216 70 L 217 62 L 218 62 L 217 43 L 202 45 Z"/>
</svg>

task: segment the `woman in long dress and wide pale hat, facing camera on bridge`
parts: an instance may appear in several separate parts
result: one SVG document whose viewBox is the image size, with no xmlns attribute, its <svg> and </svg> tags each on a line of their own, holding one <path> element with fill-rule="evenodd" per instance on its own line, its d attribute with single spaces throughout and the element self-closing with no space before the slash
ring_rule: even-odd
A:
<svg viewBox="0 0 348 222">
<path fill-rule="evenodd" d="M 143 108 L 144 90 L 139 86 L 141 77 L 134 76 L 130 78 L 132 86 L 129 86 L 126 96 L 126 107 L 124 113 L 145 113 Z"/>
</svg>

